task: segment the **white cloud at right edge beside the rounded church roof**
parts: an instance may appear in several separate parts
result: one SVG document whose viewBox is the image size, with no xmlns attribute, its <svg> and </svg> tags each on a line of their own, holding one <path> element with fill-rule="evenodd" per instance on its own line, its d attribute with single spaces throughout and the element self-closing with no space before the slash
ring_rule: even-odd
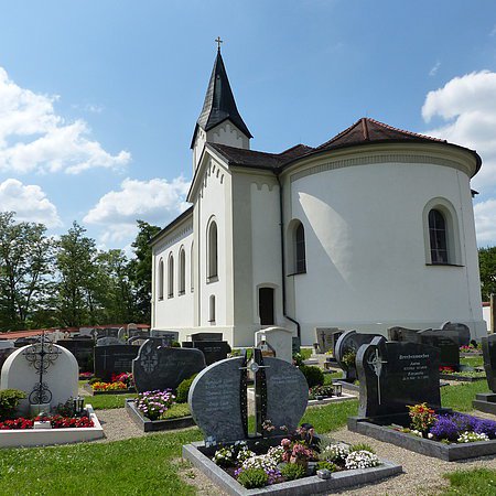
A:
<svg viewBox="0 0 496 496">
<path fill-rule="evenodd" d="M 434 117 L 445 122 L 427 134 L 477 150 L 483 166 L 472 180 L 476 190 L 496 185 L 496 73 L 466 74 L 430 91 L 422 116 L 425 122 Z"/>
</svg>

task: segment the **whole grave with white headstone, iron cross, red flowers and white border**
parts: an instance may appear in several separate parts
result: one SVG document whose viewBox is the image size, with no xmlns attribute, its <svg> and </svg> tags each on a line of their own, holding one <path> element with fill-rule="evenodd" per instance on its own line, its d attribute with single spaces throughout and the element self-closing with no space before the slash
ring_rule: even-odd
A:
<svg viewBox="0 0 496 496">
<path fill-rule="evenodd" d="M 74 355 L 43 335 L 12 353 L 1 370 L 0 446 L 91 441 L 104 431 L 90 405 L 77 397 Z"/>
</svg>

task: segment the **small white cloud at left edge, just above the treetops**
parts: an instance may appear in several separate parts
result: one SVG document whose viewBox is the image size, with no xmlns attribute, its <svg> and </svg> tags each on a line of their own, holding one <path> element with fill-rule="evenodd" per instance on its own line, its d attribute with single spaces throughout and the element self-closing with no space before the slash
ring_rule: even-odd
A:
<svg viewBox="0 0 496 496">
<path fill-rule="evenodd" d="M 46 227 L 60 227 L 57 209 L 37 185 L 24 185 L 14 179 L 0 183 L 0 205 L 3 212 L 15 212 L 17 220 L 42 223 Z"/>
</svg>

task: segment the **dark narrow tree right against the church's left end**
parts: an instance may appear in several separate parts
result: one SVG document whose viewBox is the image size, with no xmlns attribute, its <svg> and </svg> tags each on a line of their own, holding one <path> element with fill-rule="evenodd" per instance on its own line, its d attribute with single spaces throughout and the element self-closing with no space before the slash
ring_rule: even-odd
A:
<svg viewBox="0 0 496 496">
<path fill-rule="evenodd" d="M 137 321 L 151 321 L 152 250 L 150 239 L 160 233 L 160 227 L 138 220 L 138 235 L 132 242 L 136 258 L 130 262 L 130 277 L 134 287 Z"/>
</svg>

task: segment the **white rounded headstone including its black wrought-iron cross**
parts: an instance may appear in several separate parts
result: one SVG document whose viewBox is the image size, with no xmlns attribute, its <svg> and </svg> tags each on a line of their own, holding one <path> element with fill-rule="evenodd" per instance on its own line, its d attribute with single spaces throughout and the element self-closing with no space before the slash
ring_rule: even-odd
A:
<svg viewBox="0 0 496 496">
<path fill-rule="evenodd" d="M 25 416 L 30 406 L 54 408 L 77 396 L 78 365 L 66 348 L 42 338 L 39 343 L 13 352 L 1 371 L 0 389 L 20 389 L 28 397 L 21 400 L 19 413 Z"/>
</svg>

